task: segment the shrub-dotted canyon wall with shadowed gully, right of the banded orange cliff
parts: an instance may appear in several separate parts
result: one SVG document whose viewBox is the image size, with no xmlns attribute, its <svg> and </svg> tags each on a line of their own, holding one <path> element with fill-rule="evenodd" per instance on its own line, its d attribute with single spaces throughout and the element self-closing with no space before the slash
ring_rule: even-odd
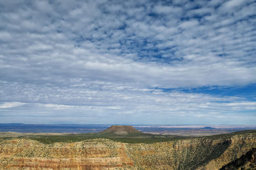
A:
<svg viewBox="0 0 256 170">
<path fill-rule="evenodd" d="M 166 143 L 127 144 L 142 169 L 220 169 L 256 146 L 255 134 L 231 138 L 194 138 Z"/>
</svg>

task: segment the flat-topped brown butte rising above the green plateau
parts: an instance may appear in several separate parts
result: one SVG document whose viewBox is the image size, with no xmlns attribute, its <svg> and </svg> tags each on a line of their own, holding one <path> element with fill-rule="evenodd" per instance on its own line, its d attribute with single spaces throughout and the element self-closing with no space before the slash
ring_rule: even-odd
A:
<svg viewBox="0 0 256 170">
<path fill-rule="evenodd" d="M 117 134 L 117 135 L 126 135 L 126 134 L 142 134 L 131 125 L 112 125 L 108 129 L 100 132 L 101 134 Z"/>
</svg>

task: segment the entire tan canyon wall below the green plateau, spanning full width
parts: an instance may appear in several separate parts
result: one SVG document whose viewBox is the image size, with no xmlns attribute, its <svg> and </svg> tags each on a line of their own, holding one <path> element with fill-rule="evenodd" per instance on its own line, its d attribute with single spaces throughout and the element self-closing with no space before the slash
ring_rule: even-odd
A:
<svg viewBox="0 0 256 170">
<path fill-rule="evenodd" d="M 152 144 L 109 139 L 43 144 L 1 139 L 0 169 L 221 169 L 242 161 L 247 154 L 244 164 L 236 167 L 239 169 L 253 167 L 255 147 L 255 132 Z"/>
</svg>

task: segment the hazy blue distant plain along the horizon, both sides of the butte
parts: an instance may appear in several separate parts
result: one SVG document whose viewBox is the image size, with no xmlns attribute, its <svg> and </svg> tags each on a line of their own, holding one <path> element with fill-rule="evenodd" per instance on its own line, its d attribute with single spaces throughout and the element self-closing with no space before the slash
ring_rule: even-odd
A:
<svg viewBox="0 0 256 170">
<path fill-rule="evenodd" d="M 0 136 L 1 132 L 83 134 L 101 132 L 110 126 L 108 124 L 0 124 Z M 133 125 L 133 127 L 144 133 L 177 136 L 209 136 L 256 129 L 256 126 L 240 125 Z"/>
</svg>

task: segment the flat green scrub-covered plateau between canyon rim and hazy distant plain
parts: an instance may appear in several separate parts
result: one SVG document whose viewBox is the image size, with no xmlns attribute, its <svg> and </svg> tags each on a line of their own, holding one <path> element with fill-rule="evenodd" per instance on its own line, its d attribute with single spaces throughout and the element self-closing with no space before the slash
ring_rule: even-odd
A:
<svg viewBox="0 0 256 170">
<path fill-rule="evenodd" d="M 239 132 L 232 132 L 229 134 L 218 134 L 214 136 L 203 136 L 203 137 L 193 137 L 198 139 L 228 139 L 231 136 L 236 134 L 248 134 L 248 133 L 256 133 L 255 130 L 251 131 L 239 131 Z M 8 138 L 0 138 L 3 139 L 10 139 Z M 174 135 L 160 135 L 160 134 L 144 134 L 141 132 L 129 133 L 129 134 L 115 134 L 115 133 L 87 133 L 87 134 L 63 134 L 63 135 L 26 135 L 26 136 L 19 136 L 13 138 L 26 138 L 26 139 L 34 139 L 36 141 L 40 141 L 41 143 L 72 143 L 83 141 L 86 139 L 97 139 L 97 138 L 105 138 L 111 139 L 113 141 L 118 141 L 122 143 L 158 143 L 158 142 L 166 142 L 166 141 L 175 141 L 177 139 L 187 139 L 192 137 L 184 137 L 184 136 L 174 136 Z"/>
</svg>

